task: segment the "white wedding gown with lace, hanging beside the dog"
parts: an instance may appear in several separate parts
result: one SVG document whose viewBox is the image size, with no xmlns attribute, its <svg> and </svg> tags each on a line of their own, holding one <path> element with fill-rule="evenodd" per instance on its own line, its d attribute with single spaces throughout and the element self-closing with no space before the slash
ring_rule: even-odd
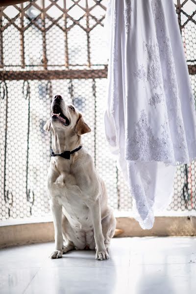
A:
<svg viewBox="0 0 196 294">
<path fill-rule="evenodd" d="M 105 132 L 144 229 L 196 158 L 196 111 L 173 0 L 110 0 Z"/>
</svg>

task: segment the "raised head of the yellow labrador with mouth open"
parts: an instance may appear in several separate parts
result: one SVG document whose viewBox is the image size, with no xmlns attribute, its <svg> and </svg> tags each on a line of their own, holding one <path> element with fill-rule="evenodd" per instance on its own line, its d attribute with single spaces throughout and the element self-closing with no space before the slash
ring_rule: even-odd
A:
<svg viewBox="0 0 196 294">
<path fill-rule="evenodd" d="M 88 124 L 72 104 L 66 104 L 60 95 L 56 95 L 51 103 L 51 117 L 44 125 L 44 130 L 49 132 L 64 131 L 67 135 L 89 133 L 91 131 Z"/>
</svg>

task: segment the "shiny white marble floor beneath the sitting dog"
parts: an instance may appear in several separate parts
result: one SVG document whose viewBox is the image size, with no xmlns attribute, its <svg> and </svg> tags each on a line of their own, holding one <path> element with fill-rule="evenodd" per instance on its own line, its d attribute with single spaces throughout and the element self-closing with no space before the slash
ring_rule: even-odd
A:
<svg viewBox="0 0 196 294">
<path fill-rule="evenodd" d="M 110 259 L 53 243 L 0 250 L 0 294 L 195 294 L 196 238 L 113 239 Z"/>
</svg>

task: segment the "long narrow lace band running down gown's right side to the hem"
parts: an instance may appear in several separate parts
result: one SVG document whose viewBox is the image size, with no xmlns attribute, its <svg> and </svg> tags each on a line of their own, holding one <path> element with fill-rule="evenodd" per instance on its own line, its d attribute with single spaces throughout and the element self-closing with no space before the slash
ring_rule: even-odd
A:
<svg viewBox="0 0 196 294">
<path fill-rule="evenodd" d="M 175 74 L 175 64 L 173 60 L 172 46 L 170 38 L 168 37 L 167 30 L 164 24 L 164 15 L 162 13 L 161 7 L 162 3 L 160 0 L 152 0 L 152 13 L 154 17 L 154 22 L 156 27 L 159 27 L 159 33 L 157 34 L 159 53 L 160 57 L 166 60 L 168 69 L 167 83 L 170 85 L 170 95 L 167 100 L 167 108 L 169 118 L 173 119 L 173 132 L 175 132 L 175 142 L 173 146 L 175 147 L 175 163 L 184 163 L 189 161 L 188 147 L 186 142 L 186 135 L 184 130 L 184 123 L 181 115 L 180 100 L 178 97 L 178 85 L 177 78 Z M 168 85 L 167 85 L 168 87 Z"/>
</svg>

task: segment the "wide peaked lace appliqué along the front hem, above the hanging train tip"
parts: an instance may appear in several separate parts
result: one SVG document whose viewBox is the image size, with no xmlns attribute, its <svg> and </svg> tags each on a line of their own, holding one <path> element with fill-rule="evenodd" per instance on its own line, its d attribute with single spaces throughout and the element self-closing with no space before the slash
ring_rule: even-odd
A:
<svg viewBox="0 0 196 294">
<path fill-rule="evenodd" d="M 147 115 L 142 110 L 139 122 L 134 124 L 133 137 L 126 139 L 125 159 L 170 162 L 169 154 L 172 155 L 172 150 L 167 121 L 162 128 L 162 137 L 156 138 L 152 128 L 147 124 Z"/>
</svg>

